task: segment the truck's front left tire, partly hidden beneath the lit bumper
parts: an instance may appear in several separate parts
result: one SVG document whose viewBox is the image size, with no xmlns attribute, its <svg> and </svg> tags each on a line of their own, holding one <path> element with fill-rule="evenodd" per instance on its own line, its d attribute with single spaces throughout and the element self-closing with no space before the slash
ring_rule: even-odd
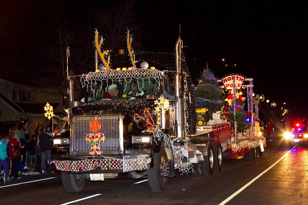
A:
<svg viewBox="0 0 308 205">
<path fill-rule="evenodd" d="M 61 180 L 65 191 L 79 192 L 82 190 L 85 179 L 80 174 L 61 172 Z"/>
</svg>

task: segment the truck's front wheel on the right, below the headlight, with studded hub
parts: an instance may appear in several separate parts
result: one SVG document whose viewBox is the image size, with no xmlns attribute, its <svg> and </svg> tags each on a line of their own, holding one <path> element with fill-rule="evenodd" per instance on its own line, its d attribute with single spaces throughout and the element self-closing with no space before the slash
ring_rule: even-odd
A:
<svg viewBox="0 0 308 205">
<path fill-rule="evenodd" d="M 153 167 L 148 169 L 148 183 L 153 192 L 161 192 L 168 184 L 168 157 L 164 147 L 153 155 Z"/>
</svg>

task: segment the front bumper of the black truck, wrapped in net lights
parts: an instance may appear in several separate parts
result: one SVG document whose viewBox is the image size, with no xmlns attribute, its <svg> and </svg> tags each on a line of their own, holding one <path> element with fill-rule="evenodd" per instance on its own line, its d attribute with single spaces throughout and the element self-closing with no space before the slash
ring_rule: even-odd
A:
<svg viewBox="0 0 308 205">
<path fill-rule="evenodd" d="M 142 171 L 150 167 L 151 156 L 108 155 L 108 156 L 61 156 L 53 155 L 53 170 L 69 173 L 124 173 Z"/>
</svg>

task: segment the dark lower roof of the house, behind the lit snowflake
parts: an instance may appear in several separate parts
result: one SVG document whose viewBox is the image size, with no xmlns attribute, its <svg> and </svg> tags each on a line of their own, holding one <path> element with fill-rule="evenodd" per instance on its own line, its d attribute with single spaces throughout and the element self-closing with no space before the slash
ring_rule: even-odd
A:
<svg viewBox="0 0 308 205">
<path fill-rule="evenodd" d="M 23 103 L 23 102 L 16 102 L 16 104 L 21 107 L 25 112 L 32 112 L 33 114 L 44 114 L 45 110 L 44 107 L 46 104 L 44 103 Z M 55 115 L 66 115 L 67 113 L 64 111 L 63 107 L 60 103 L 50 103 L 50 105 L 54 109 Z M 60 106 L 63 109 L 63 112 L 55 111 L 56 108 Z M 61 109 L 60 109 L 61 110 Z"/>
</svg>

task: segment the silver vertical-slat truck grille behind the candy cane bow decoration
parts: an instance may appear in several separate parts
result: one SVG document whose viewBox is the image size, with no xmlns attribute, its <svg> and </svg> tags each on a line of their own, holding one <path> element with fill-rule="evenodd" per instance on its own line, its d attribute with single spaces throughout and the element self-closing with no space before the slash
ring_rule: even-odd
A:
<svg viewBox="0 0 308 205">
<path fill-rule="evenodd" d="M 118 115 L 77 116 L 72 124 L 72 142 L 74 151 L 90 151 L 91 145 L 86 142 L 86 136 L 93 133 L 89 124 L 91 120 L 98 120 L 101 124 L 98 132 L 105 135 L 103 143 L 99 143 L 100 151 L 118 151 L 120 149 L 120 126 Z"/>
</svg>

